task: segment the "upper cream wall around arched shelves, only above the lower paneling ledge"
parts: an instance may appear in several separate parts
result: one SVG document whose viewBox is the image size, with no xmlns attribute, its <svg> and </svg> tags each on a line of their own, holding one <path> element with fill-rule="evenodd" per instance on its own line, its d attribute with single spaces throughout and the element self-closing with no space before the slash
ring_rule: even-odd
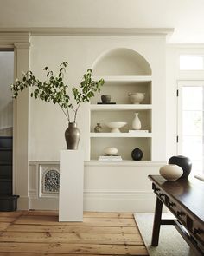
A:
<svg viewBox="0 0 204 256">
<path fill-rule="evenodd" d="M 57 71 L 58 65 L 67 61 L 68 84 L 78 85 L 86 69 L 92 68 L 101 54 L 120 47 L 136 50 L 153 70 L 152 160 L 165 161 L 165 37 L 32 36 L 30 68 L 44 78 L 42 69 L 45 66 Z M 84 149 L 88 161 L 90 124 L 87 104 L 81 105 L 77 122 L 81 130 L 80 148 Z M 51 103 L 31 99 L 29 127 L 29 160 L 58 161 L 60 150 L 66 148 L 64 131 L 67 121 L 61 109 Z"/>
</svg>

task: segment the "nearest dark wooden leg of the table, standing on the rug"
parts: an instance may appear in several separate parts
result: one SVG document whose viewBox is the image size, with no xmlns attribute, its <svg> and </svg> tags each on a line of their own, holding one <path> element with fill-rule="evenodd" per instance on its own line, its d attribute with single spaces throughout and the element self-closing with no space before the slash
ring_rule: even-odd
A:
<svg viewBox="0 0 204 256">
<path fill-rule="evenodd" d="M 163 211 L 163 202 L 156 197 L 156 208 L 155 208 L 155 218 L 151 237 L 151 246 L 158 246 L 159 243 L 159 232 L 161 226 L 161 217 Z"/>
</svg>

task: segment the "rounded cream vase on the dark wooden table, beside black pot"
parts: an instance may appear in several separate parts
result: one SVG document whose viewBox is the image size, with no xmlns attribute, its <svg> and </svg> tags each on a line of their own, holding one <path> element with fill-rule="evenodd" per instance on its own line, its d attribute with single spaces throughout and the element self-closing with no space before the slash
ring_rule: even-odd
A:
<svg viewBox="0 0 204 256">
<path fill-rule="evenodd" d="M 167 181 L 176 181 L 182 177 L 183 170 L 175 164 L 168 164 L 160 168 L 159 173 Z"/>
</svg>

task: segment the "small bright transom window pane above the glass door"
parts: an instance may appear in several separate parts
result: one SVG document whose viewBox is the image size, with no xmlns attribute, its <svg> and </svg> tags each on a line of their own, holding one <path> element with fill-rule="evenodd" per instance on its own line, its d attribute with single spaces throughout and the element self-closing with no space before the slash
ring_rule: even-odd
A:
<svg viewBox="0 0 204 256">
<path fill-rule="evenodd" d="M 203 56 L 180 56 L 180 70 L 202 70 L 203 61 Z"/>
</svg>

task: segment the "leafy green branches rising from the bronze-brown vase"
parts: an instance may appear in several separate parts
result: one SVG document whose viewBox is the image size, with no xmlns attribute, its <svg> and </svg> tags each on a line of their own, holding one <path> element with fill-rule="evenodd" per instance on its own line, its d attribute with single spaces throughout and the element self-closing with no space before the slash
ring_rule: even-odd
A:
<svg viewBox="0 0 204 256">
<path fill-rule="evenodd" d="M 44 102 L 53 102 L 58 104 L 70 122 L 69 109 L 74 112 L 73 122 L 76 121 L 77 113 L 80 108 L 80 104 L 83 102 L 90 102 L 90 99 L 99 93 L 101 87 L 105 83 L 101 78 L 99 81 L 92 81 L 92 69 L 87 69 L 86 74 L 83 76 L 83 81 L 80 83 L 80 87 L 73 87 L 72 93 L 75 100 L 75 107 L 71 102 L 71 97 L 68 95 L 69 86 L 64 82 L 64 75 L 67 69 L 67 62 L 62 62 L 59 69 L 59 74 L 54 76 L 54 72 L 45 67 L 43 70 L 47 71 L 47 79 L 41 82 L 33 75 L 31 70 L 26 73 L 22 73 L 22 81 L 16 79 L 16 82 L 10 85 L 10 89 L 13 93 L 13 98 L 17 98 L 19 92 L 23 89 L 33 87 L 34 90 L 30 94 L 35 99 L 41 99 Z"/>
</svg>

